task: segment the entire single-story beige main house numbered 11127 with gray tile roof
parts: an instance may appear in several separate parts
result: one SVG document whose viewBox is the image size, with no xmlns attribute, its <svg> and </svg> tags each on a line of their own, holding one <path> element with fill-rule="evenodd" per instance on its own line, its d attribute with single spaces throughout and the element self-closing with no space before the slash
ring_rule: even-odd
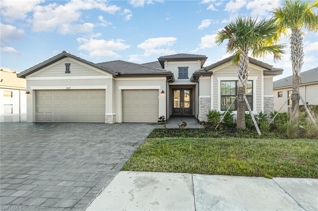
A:
<svg viewBox="0 0 318 211">
<path fill-rule="evenodd" d="M 162 115 L 206 120 L 209 110 L 230 105 L 238 70 L 231 57 L 203 67 L 206 60 L 205 55 L 174 54 L 144 64 L 95 64 L 63 51 L 18 74 L 30 92 L 27 121 L 157 122 Z M 254 113 L 273 111 L 273 75 L 282 71 L 250 58 L 247 97 Z"/>
</svg>

